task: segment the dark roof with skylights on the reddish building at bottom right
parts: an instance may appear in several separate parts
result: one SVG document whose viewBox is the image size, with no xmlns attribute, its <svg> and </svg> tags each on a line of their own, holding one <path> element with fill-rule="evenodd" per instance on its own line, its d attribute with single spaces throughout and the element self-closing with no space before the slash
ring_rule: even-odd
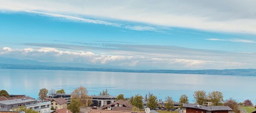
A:
<svg viewBox="0 0 256 113">
<path fill-rule="evenodd" d="M 232 110 L 228 106 L 203 106 L 203 105 L 199 105 L 199 107 L 197 107 L 197 104 L 183 104 L 183 107 L 195 108 L 195 109 L 201 109 L 201 110 L 207 110 L 207 111 Z"/>
</svg>

